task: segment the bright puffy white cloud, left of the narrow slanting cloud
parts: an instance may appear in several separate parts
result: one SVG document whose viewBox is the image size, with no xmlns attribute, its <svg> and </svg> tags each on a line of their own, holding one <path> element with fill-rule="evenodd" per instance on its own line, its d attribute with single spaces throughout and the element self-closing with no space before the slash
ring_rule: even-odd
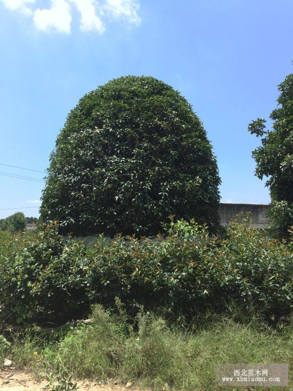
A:
<svg viewBox="0 0 293 391">
<path fill-rule="evenodd" d="M 71 20 L 70 6 L 65 0 L 52 0 L 50 9 L 37 9 L 34 14 L 36 27 L 42 31 L 57 30 L 68 34 Z"/>
</svg>

